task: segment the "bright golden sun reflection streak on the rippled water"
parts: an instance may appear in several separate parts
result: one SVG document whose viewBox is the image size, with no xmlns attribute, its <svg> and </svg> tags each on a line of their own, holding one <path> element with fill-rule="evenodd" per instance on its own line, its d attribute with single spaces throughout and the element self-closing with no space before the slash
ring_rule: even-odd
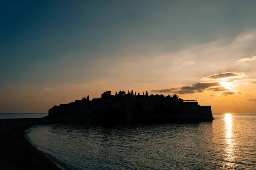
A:
<svg viewBox="0 0 256 170">
<path fill-rule="evenodd" d="M 227 167 L 233 167 L 232 162 L 235 161 L 234 156 L 234 136 L 233 136 L 233 118 L 231 114 L 225 114 L 224 121 L 226 123 L 226 139 L 225 139 L 225 160 Z"/>
</svg>

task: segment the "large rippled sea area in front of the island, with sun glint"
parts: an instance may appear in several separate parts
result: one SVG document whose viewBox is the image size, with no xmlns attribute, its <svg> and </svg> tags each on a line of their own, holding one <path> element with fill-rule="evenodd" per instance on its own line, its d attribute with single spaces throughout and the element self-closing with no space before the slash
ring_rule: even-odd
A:
<svg viewBox="0 0 256 170">
<path fill-rule="evenodd" d="M 164 125 L 40 125 L 26 137 L 67 170 L 256 170 L 256 114 Z"/>
</svg>

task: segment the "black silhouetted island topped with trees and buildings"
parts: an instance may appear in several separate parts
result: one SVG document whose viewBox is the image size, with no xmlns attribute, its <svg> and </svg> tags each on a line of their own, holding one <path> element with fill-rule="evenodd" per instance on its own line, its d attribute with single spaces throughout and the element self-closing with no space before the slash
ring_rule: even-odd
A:
<svg viewBox="0 0 256 170">
<path fill-rule="evenodd" d="M 212 121 L 211 106 L 200 106 L 196 100 L 183 100 L 173 96 L 140 95 L 133 91 L 106 91 L 101 98 L 83 98 L 69 104 L 53 106 L 48 117 L 61 119 L 81 119 L 93 122 L 173 122 Z"/>
</svg>

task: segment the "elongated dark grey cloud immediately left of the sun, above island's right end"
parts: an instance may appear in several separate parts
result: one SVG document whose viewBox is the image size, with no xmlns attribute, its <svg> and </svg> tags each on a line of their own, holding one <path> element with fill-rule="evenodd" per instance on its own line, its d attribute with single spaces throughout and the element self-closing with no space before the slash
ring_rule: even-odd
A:
<svg viewBox="0 0 256 170">
<path fill-rule="evenodd" d="M 205 89 L 214 87 L 214 86 L 221 86 L 221 83 L 219 82 L 198 82 L 195 84 L 192 84 L 191 86 L 183 86 L 181 90 L 190 90 L 190 91 L 198 91 L 203 92 Z"/>
</svg>

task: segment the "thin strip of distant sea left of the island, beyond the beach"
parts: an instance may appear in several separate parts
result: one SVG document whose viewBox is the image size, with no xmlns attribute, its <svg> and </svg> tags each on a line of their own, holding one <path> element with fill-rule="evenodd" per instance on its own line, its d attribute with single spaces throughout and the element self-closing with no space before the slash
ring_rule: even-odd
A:
<svg viewBox="0 0 256 170">
<path fill-rule="evenodd" d="M 0 119 L 41 118 L 48 113 L 0 113 Z"/>
</svg>

